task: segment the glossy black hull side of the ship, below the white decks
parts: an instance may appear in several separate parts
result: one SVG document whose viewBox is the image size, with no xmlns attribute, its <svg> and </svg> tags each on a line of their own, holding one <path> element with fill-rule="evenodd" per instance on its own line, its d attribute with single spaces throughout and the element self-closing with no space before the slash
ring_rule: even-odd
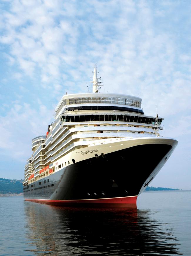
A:
<svg viewBox="0 0 191 256">
<path fill-rule="evenodd" d="M 24 198 L 42 203 L 48 200 L 49 203 L 51 200 L 98 203 L 97 200 L 104 202 L 109 198 L 118 198 L 121 202 L 123 198 L 136 198 L 151 173 L 163 166 L 171 149 L 172 146 L 165 144 L 139 145 L 76 162 L 25 186 Z"/>
</svg>

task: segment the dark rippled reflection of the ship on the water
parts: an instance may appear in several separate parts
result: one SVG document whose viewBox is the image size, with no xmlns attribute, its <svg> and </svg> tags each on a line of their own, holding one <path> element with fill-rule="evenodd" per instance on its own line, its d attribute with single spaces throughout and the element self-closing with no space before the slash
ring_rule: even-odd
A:
<svg viewBox="0 0 191 256">
<path fill-rule="evenodd" d="M 37 255 L 175 255 L 169 224 L 150 211 L 63 208 L 25 202 L 26 229 Z"/>
</svg>

